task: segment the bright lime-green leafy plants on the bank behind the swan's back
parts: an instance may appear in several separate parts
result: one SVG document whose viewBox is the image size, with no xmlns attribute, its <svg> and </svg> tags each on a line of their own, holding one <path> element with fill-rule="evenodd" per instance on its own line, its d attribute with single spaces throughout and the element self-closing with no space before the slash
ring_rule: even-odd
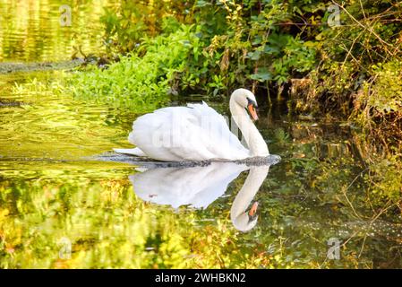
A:
<svg viewBox="0 0 402 287">
<path fill-rule="evenodd" d="M 157 109 L 169 100 L 175 74 L 184 70 L 196 41 L 192 26 L 185 25 L 174 33 L 144 38 L 136 52 L 120 57 L 107 69 L 90 67 L 73 74 L 68 89 L 78 98 L 106 101 L 136 112 Z"/>
</svg>

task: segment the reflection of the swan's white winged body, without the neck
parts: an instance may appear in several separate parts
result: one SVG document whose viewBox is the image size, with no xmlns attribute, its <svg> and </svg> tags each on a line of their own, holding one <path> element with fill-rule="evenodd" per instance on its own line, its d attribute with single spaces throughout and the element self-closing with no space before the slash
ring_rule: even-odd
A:
<svg viewBox="0 0 402 287">
<path fill-rule="evenodd" d="M 233 162 L 213 162 L 207 167 L 160 168 L 130 176 L 134 192 L 144 201 L 177 208 L 192 205 L 206 208 L 222 196 L 228 184 L 247 170 Z"/>
</svg>

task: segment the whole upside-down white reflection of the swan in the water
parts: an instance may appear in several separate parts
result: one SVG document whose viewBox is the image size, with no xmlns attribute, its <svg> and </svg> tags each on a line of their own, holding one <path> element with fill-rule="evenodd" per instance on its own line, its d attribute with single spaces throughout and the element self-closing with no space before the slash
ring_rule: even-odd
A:
<svg viewBox="0 0 402 287">
<path fill-rule="evenodd" d="M 271 157 L 274 157 L 271 155 Z M 279 158 L 271 161 L 278 162 Z M 152 167 L 138 169 L 130 176 L 133 189 L 142 200 L 154 204 L 167 204 L 173 208 L 191 205 L 194 208 L 207 208 L 218 197 L 223 196 L 230 182 L 240 173 L 249 170 L 243 187 L 235 196 L 230 209 L 230 218 L 235 229 L 252 230 L 256 225 L 258 203 L 252 199 L 268 175 L 269 164 L 250 164 L 239 162 L 210 162 L 207 166 L 193 167 Z"/>
</svg>

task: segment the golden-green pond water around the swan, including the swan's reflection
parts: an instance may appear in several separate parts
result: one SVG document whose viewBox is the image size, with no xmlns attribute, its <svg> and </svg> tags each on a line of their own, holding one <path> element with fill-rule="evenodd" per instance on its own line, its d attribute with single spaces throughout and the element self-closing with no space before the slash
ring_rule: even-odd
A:
<svg viewBox="0 0 402 287">
<path fill-rule="evenodd" d="M 86 30 L 81 20 L 67 33 L 57 26 L 61 2 L 12 3 L 0 2 L 4 62 L 65 61 L 80 44 L 98 50 L 101 5 L 73 3 L 94 24 Z M 279 102 L 262 108 L 258 122 L 270 152 L 282 157 L 269 169 L 144 170 L 107 161 L 113 147 L 130 147 L 138 115 L 13 88 L 61 77 L 0 75 L 1 267 L 401 267 L 401 219 L 376 218 L 364 148 L 345 123 L 288 117 Z M 227 102 L 210 105 L 227 114 Z M 254 185 L 241 193 L 246 178 Z M 258 218 L 249 224 L 236 211 L 254 202 Z M 340 257 L 331 249 L 337 242 Z"/>
</svg>

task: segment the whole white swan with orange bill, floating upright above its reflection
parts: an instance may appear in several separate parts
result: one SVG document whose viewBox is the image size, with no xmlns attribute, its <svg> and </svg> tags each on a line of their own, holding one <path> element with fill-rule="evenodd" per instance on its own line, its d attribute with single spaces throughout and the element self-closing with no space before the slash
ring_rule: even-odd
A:
<svg viewBox="0 0 402 287">
<path fill-rule="evenodd" d="M 268 156 L 267 143 L 252 122 L 258 119 L 252 91 L 233 91 L 229 108 L 248 149 L 230 131 L 225 117 L 202 102 L 157 109 L 138 117 L 128 136 L 136 147 L 114 150 L 158 161 L 236 161 Z"/>
</svg>

